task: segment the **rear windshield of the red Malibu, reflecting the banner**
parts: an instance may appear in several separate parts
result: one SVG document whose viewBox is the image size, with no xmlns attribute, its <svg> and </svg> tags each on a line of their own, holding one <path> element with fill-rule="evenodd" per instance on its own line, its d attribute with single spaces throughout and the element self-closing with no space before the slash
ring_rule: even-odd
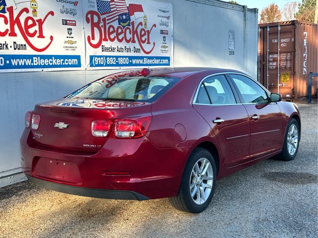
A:
<svg viewBox="0 0 318 238">
<path fill-rule="evenodd" d="M 169 76 L 108 76 L 87 84 L 66 98 L 152 102 L 179 79 Z"/>
</svg>

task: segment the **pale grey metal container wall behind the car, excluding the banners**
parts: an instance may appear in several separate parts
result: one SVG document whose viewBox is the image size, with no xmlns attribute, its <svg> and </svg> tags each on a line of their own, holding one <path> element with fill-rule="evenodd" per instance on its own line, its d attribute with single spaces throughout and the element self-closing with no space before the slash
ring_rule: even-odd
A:
<svg viewBox="0 0 318 238">
<path fill-rule="evenodd" d="M 173 4 L 174 67 L 232 68 L 256 78 L 256 8 L 219 0 L 158 1 Z M 25 179 L 20 169 L 19 138 L 27 111 L 32 111 L 36 103 L 64 97 L 86 83 L 117 71 L 0 73 L 4 115 L 0 117 L 0 187 Z"/>
</svg>

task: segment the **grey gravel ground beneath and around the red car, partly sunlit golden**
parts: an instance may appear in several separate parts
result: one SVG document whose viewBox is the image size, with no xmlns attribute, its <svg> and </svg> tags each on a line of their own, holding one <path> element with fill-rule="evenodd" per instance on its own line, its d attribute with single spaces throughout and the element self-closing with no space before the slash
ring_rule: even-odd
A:
<svg viewBox="0 0 318 238">
<path fill-rule="evenodd" d="M 0 188 L 0 237 L 318 237 L 317 104 L 299 108 L 296 159 L 269 159 L 219 180 L 201 214 L 174 210 L 167 199 L 87 198 L 25 181 Z"/>
</svg>

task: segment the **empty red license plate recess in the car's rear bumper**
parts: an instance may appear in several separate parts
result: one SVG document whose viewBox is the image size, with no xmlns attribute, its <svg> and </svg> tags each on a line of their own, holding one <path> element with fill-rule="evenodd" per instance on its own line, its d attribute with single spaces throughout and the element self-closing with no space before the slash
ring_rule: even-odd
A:
<svg viewBox="0 0 318 238">
<path fill-rule="evenodd" d="M 47 180 L 81 184 L 78 166 L 70 161 L 39 158 L 32 172 L 34 177 Z"/>
</svg>

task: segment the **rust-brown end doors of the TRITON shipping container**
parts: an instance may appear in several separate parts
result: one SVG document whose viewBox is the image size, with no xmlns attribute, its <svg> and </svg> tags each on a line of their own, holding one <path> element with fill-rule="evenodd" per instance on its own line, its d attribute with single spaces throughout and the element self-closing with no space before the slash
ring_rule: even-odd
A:
<svg viewBox="0 0 318 238">
<path fill-rule="evenodd" d="M 260 52 L 260 82 L 285 100 L 294 100 L 295 26 L 262 27 Z"/>
</svg>

